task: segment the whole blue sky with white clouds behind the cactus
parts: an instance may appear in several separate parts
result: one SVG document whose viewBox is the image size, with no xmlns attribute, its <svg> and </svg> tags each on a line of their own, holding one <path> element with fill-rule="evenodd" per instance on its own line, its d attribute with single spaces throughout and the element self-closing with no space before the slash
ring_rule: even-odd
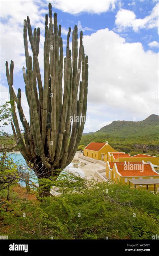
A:
<svg viewBox="0 0 159 256">
<path fill-rule="evenodd" d="M 24 93 L 23 20 L 40 27 L 39 62 L 43 76 L 43 42 L 48 1 L 1 1 L 1 92 L 8 92 L 5 61 L 14 61 L 14 88 Z M 52 1 L 62 26 L 63 44 L 68 27 L 83 30 L 89 56 L 88 122 L 84 132 L 96 131 L 113 120 L 140 121 L 158 115 L 158 1 Z M 8 9 L 8 5 L 10 8 Z M 65 53 L 65 46 L 64 46 Z M 32 52 L 30 51 L 30 54 Z M 2 97 L 1 103 L 7 100 Z M 4 94 L 5 95 L 5 94 Z M 9 129 L 11 133 L 10 127 Z"/>
</svg>

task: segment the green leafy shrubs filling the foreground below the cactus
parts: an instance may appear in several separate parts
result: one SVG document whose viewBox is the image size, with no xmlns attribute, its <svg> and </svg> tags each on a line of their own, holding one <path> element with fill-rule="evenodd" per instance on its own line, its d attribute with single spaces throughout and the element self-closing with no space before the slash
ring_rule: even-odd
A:
<svg viewBox="0 0 159 256">
<path fill-rule="evenodd" d="M 1 207 L 9 239 L 151 239 L 158 233 L 158 194 L 68 173 L 51 184 L 58 196 L 13 200 L 12 211 Z"/>
</svg>

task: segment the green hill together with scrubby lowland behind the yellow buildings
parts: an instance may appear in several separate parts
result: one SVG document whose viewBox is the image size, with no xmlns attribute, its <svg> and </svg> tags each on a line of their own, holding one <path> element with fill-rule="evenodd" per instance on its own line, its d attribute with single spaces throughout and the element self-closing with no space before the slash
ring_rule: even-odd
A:
<svg viewBox="0 0 159 256">
<path fill-rule="evenodd" d="M 159 116 L 151 115 L 139 122 L 113 121 L 94 133 L 83 135 L 80 145 L 86 146 L 91 141 L 108 141 L 115 150 L 131 155 L 159 156 Z"/>
</svg>

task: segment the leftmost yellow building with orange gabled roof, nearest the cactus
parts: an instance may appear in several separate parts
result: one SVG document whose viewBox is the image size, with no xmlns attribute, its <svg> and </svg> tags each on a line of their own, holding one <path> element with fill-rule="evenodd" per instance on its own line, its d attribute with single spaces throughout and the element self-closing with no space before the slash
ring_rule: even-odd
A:
<svg viewBox="0 0 159 256">
<path fill-rule="evenodd" d="M 117 152 L 108 143 L 102 142 L 90 142 L 90 144 L 84 148 L 84 156 L 94 158 L 97 160 L 103 160 L 104 155 L 108 152 Z"/>
</svg>

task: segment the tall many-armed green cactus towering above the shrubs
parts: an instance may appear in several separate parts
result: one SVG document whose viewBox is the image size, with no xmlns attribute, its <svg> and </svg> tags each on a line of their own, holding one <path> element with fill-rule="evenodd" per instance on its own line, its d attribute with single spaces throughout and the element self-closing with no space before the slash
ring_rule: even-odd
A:
<svg viewBox="0 0 159 256">
<path fill-rule="evenodd" d="M 27 29 L 33 57 L 29 56 L 28 52 Z M 88 56 L 85 57 L 84 53 L 82 31 L 78 54 L 77 32 L 78 28 L 75 25 L 72 32 L 71 57 L 69 48 L 71 28 L 68 29 L 66 57 L 63 60 L 61 25 L 58 28 L 57 13 L 54 13 L 53 24 L 52 6 L 49 3 L 49 16 L 48 14 L 45 16 L 44 85 L 42 85 L 38 61 L 40 28 L 35 28 L 33 34 L 29 17 L 24 20 L 26 72 L 24 67 L 22 71 L 30 122 L 25 119 L 21 107 L 20 88 L 16 96 L 12 87 L 13 61 L 10 64 L 10 71 L 6 62 L 14 137 L 20 145 L 21 154 L 39 179 L 51 175 L 58 176 L 59 169 L 65 168 L 72 161 L 84 129 L 87 110 Z M 81 82 L 80 78 L 82 78 Z M 80 92 L 79 99 L 78 92 Z M 23 135 L 19 128 L 15 103 L 24 128 Z M 74 115 L 82 116 L 82 119 L 78 118 L 71 122 L 71 116 Z"/>
</svg>

